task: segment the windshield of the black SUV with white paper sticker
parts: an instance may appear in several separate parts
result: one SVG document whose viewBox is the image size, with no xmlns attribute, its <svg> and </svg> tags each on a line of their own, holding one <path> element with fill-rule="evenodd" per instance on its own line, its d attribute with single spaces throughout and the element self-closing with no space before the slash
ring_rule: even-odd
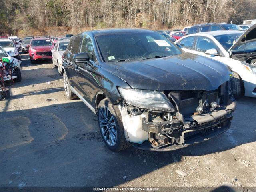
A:
<svg viewBox="0 0 256 192">
<path fill-rule="evenodd" d="M 172 42 L 156 32 L 126 32 L 96 36 L 105 61 L 132 61 L 181 54 Z"/>
</svg>

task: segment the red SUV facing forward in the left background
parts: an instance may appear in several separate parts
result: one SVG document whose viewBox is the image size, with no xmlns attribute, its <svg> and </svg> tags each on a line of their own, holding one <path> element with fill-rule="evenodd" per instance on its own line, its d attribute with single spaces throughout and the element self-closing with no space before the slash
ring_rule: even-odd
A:
<svg viewBox="0 0 256 192">
<path fill-rule="evenodd" d="M 40 59 L 52 59 L 53 42 L 48 38 L 35 38 L 30 42 L 29 56 L 31 64 Z"/>
</svg>

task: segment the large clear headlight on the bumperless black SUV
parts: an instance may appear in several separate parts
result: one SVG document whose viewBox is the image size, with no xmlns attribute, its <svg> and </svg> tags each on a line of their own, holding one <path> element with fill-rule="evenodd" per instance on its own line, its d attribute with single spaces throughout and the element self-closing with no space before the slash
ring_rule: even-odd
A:
<svg viewBox="0 0 256 192">
<path fill-rule="evenodd" d="M 174 112 L 174 106 L 159 91 L 118 88 L 126 103 L 149 110 Z"/>
</svg>

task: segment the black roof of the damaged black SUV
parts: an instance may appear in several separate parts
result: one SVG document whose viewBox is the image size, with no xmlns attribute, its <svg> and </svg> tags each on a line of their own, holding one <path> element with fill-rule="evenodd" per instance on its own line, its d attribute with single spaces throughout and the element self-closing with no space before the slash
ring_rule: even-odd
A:
<svg viewBox="0 0 256 192">
<path fill-rule="evenodd" d="M 146 29 L 133 29 L 133 28 L 115 28 L 115 29 L 101 29 L 101 30 L 93 30 L 93 31 L 86 31 L 82 32 L 80 34 L 94 34 L 94 36 L 99 35 L 106 35 L 106 34 L 113 34 L 113 33 L 127 33 L 127 32 L 154 32 L 152 30 L 146 30 Z"/>
</svg>

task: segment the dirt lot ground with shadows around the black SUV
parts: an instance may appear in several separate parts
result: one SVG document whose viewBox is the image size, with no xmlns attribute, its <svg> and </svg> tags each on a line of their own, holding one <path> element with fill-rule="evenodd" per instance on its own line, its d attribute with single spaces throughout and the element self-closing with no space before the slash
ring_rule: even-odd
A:
<svg viewBox="0 0 256 192">
<path fill-rule="evenodd" d="M 22 82 L 0 101 L 0 186 L 256 187 L 256 98 L 238 100 L 230 130 L 207 142 L 114 153 L 52 64 L 22 59 Z"/>
</svg>

